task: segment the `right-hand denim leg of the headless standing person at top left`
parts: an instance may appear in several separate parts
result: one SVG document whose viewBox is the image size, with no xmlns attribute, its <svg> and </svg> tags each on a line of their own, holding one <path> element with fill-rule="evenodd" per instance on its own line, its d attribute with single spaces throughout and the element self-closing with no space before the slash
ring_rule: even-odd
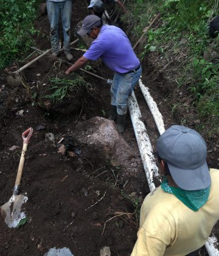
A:
<svg viewBox="0 0 219 256">
<path fill-rule="evenodd" d="M 61 22 L 63 26 L 63 37 L 64 37 L 64 43 L 63 43 L 63 50 L 64 54 L 70 54 L 71 52 L 71 14 L 72 14 L 72 0 L 67 0 L 64 2 L 61 2 Z"/>
</svg>

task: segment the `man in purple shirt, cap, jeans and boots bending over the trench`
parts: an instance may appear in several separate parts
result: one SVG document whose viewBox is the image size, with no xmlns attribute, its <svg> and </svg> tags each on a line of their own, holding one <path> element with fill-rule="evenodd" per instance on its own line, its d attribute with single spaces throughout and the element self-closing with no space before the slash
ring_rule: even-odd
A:
<svg viewBox="0 0 219 256">
<path fill-rule="evenodd" d="M 95 40 L 88 51 L 66 71 L 66 74 L 81 68 L 89 60 L 99 58 L 114 71 L 109 119 L 114 121 L 117 119 L 117 129 L 123 133 L 128 96 L 131 95 L 142 73 L 139 59 L 122 29 L 102 25 L 102 20 L 96 15 L 86 16 L 78 34 L 81 36 L 87 34 Z"/>
</svg>

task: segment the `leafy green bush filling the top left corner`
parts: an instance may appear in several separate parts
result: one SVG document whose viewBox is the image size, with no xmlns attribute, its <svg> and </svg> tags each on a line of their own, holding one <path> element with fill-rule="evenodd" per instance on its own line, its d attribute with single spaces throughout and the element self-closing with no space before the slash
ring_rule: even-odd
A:
<svg viewBox="0 0 219 256">
<path fill-rule="evenodd" d="M 38 0 L 4 0 L 0 11 L 0 68 L 9 65 L 32 43 Z"/>
</svg>

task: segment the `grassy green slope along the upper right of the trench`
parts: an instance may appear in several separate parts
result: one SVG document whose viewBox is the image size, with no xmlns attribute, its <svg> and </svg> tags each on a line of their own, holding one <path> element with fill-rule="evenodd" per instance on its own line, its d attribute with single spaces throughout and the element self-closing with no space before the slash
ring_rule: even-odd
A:
<svg viewBox="0 0 219 256">
<path fill-rule="evenodd" d="M 135 27 L 131 37 L 139 38 L 152 17 L 161 13 L 156 29 L 148 30 L 140 57 L 155 52 L 156 57 L 177 63 L 169 69 L 176 87 L 189 91 L 201 122 L 211 124 L 209 136 L 219 130 L 219 38 L 212 40 L 208 33 L 209 21 L 218 15 L 216 5 L 207 0 L 128 1 L 131 14 L 124 17 Z"/>
</svg>

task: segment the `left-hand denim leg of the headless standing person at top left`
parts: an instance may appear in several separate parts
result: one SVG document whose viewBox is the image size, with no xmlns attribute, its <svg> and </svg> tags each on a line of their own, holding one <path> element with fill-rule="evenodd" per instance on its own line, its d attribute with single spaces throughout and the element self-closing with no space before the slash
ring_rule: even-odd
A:
<svg viewBox="0 0 219 256">
<path fill-rule="evenodd" d="M 58 54 L 58 16 L 60 12 L 59 3 L 47 0 L 46 7 L 50 23 L 50 42 L 52 46 L 52 53 Z"/>
</svg>

